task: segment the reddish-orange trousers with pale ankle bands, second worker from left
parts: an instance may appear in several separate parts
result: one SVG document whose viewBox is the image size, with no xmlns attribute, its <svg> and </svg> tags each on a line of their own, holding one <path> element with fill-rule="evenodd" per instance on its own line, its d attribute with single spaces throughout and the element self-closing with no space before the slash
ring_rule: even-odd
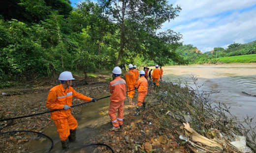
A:
<svg viewBox="0 0 256 153">
<path fill-rule="evenodd" d="M 116 111 L 118 110 L 117 117 Z M 119 127 L 123 125 L 123 117 L 124 117 L 124 102 L 110 102 L 108 108 L 108 114 L 111 119 L 111 122 L 114 127 Z"/>
</svg>

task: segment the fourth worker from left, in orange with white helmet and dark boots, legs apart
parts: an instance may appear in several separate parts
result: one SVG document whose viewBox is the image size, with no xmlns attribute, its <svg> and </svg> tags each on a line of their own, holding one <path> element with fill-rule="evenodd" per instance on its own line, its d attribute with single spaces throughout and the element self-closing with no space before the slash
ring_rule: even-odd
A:
<svg viewBox="0 0 256 153">
<path fill-rule="evenodd" d="M 143 104 L 143 107 L 146 107 L 146 95 L 148 93 L 148 80 L 144 77 L 145 76 L 145 71 L 141 70 L 139 72 L 140 78 L 137 82 L 137 87 L 139 91 L 139 97 L 138 97 L 138 102 L 137 102 L 137 109 L 134 116 L 139 115 L 140 112 L 140 107 Z"/>
</svg>

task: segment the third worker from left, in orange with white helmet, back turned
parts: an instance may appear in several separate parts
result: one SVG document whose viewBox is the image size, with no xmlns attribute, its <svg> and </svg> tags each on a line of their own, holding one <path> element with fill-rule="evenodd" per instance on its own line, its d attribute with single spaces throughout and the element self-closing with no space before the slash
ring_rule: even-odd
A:
<svg viewBox="0 0 256 153">
<path fill-rule="evenodd" d="M 128 91 L 130 91 L 130 92 L 128 92 L 129 103 L 131 105 L 134 105 L 134 103 L 132 103 L 132 99 L 134 96 L 134 88 L 137 89 L 137 87 L 136 87 L 137 82 L 135 80 L 135 74 L 132 72 L 132 68 L 133 68 L 133 65 L 129 64 L 128 65 L 129 71 L 126 73 L 126 83 L 127 83 Z"/>
</svg>

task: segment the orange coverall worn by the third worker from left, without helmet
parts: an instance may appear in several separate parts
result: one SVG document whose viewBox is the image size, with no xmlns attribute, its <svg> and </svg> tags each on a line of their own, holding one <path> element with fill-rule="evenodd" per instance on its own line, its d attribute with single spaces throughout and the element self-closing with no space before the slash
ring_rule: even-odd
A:
<svg viewBox="0 0 256 153">
<path fill-rule="evenodd" d="M 135 80 L 135 74 L 132 72 L 132 70 L 129 70 L 126 73 L 126 83 L 127 83 L 128 91 L 133 90 L 134 87 L 136 87 L 136 85 L 137 85 L 136 84 L 137 82 Z M 135 92 L 134 90 L 128 92 L 128 97 L 133 98 L 134 92 Z"/>
</svg>

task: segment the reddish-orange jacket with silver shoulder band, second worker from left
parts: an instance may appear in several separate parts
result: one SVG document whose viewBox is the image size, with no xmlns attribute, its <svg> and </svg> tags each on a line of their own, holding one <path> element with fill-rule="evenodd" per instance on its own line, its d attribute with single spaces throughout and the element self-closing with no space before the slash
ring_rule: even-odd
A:
<svg viewBox="0 0 256 153">
<path fill-rule="evenodd" d="M 124 102 L 126 99 L 126 81 L 121 77 L 116 77 L 109 83 L 111 102 Z"/>
</svg>

